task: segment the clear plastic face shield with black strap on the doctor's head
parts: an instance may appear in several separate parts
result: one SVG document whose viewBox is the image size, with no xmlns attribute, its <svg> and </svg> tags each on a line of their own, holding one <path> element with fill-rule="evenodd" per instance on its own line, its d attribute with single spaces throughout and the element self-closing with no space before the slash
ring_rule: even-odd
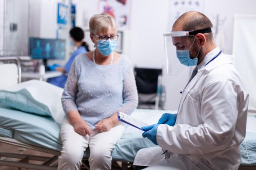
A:
<svg viewBox="0 0 256 170">
<path fill-rule="evenodd" d="M 165 55 L 166 55 L 167 74 L 178 75 L 183 69 L 186 68 L 186 66 L 190 66 L 189 64 L 187 64 L 186 66 L 182 65 L 183 63 L 182 64 L 180 63 L 182 61 L 178 59 L 177 54 L 188 56 L 188 59 L 190 60 L 189 51 L 191 50 L 191 47 L 195 41 L 195 38 L 196 38 L 195 35 L 197 35 L 198 33 L 203 34 L 203 33 L 211 33 L 211 32 L 212 32 L 211 29 L 203 29 L 198 31 L 176 31 L 176 32 L 164 33 L 163 37 L 164 37 L 164 48 L 165 48 Z M 197 54 L 195 56 L 197 56 Z M 190 63 L 195 64 L 195 61 L 192 61 Z"/>
</svg>

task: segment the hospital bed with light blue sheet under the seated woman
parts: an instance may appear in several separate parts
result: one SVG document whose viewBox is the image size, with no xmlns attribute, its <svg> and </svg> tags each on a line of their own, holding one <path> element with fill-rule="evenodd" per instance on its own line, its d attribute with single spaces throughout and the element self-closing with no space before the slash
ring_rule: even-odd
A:
<svg viewBox="0 0 256 170">
<path fill-rule="evenodd" d="M 132 116 L 148 124 L 158 121 L 160 116 L 173 111 L 136 109 Z M 248 115 L 247 134 L 240 145 L 242 164 L 240 170 L 256 169 L 256 117 Z M 51 153 L 52 157 L 25 155 L 16 153 L 0 153 L 0 157 L 18 158 L 18 162 L 8 159 L 0 160 L 0 165 L 36 170 L 56 170 L 57 159 L 61 151 L 59 136 L 60 125 L 48 116 L 40 116 L 13 109 L 0 104 L 0 142 L 16 145 L 39 152 Z M 113 153 L 113 161 L 122 162 L 121 169 L 125 170 L 134 161 L 135 155 L 141 148 L 155 146 L 151 141 L 141 136 L 142 131 L 127 126 L 124 135 L 118 141 Z M 89 151 L 84 154 L 84 160 L 89 157 Z M 29 160 L 42 163 L 32 164 Z M 84 168 L 88 166 L 84 164 Z"/>
</svg>

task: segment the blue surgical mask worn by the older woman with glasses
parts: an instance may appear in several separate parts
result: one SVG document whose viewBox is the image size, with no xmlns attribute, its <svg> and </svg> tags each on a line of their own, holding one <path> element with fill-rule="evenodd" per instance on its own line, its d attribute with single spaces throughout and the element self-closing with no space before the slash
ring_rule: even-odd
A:
<svg viewBox="0 0 256 170">
<path fill-rule="evenodd" d="M 108 39 L 107 41 L 98 40 L 98 51 L 105 56 L 110 55 L 117 46 L 117 40 Z"/>
</svg>

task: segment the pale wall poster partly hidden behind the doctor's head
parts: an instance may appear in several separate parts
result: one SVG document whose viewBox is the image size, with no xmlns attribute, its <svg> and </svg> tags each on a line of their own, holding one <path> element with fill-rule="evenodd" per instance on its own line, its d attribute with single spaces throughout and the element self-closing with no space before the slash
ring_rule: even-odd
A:
<svg viewBox="0 0 256 170">
<path fill-rule="evenodd" d="M 172 25 L 178 17 L 187 11 L 204 12 L 204 0 L 170 0 L 168 30 L 171 31 Z"/>
</svg>

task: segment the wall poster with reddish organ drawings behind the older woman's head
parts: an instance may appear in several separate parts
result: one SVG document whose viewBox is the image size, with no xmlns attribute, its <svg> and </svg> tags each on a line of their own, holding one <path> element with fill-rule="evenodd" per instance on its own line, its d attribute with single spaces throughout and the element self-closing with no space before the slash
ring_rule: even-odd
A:
<svg viewBox="0 0 256 170">
<path fill-rule="evenodd" d="M 118 29 L 129 28 L 131 0 L 98 0 L 98 14 L 106 13 L 116 19 Z"/>
</svg>

